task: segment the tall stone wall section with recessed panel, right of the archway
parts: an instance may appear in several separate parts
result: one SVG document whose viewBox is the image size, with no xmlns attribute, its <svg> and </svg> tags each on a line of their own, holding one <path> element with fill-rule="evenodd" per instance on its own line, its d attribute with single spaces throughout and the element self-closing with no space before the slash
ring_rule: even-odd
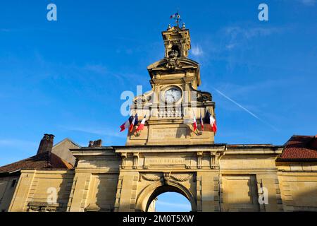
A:
<svg viewBox="0 0 317 226">
<path fill-rule="evenodd" d="M 275 165 L 279 152 L 232 148 L 220 158 L 222 211 L 283 210 Z"/>
</svg>

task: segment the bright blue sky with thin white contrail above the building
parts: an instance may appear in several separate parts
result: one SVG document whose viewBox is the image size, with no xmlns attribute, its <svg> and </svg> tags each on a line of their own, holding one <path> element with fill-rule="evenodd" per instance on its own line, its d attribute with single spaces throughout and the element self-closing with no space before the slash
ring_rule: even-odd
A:
<svg viewBox="0 0 317 226">
<path fill-rule="evenodd" d="M 57 21 L 46 6 L 57 6 Z M 268 4 L 269 20 L 258 20 Z M 1 1 L 0 165 L 35 155 L 43 133 L 123 145 L 120 94 L 150 89 L 161 31 L 179 9 L 216 102 L 216 143 L 273 143 L 317 128 L 317 3 Z"/>
</svg>

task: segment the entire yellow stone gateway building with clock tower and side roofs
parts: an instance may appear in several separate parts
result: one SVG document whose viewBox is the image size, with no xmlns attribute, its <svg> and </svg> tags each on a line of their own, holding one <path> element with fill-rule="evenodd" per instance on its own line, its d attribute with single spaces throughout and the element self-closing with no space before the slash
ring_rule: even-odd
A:
<svg viewBox="0 0 317 226">
<path fill-rule="evenodd" d="M 215 102 L 198 90 L 189 30 L 169 26 L 162 36 L 165 55 L 147 67 L 151 90 L 130 106 L 139 120 L 147 115 L 144 129 L 116 146 L 69 139 L 53 146 L 46 134 L 37 155 L 0 167 L 0 210 L 152 211 L 166 191 L 185 196 L 192 211 L 317 210 L 316 136 L 230 145 L 214 143 L 208 124 L 193 131 L 193 116 L 216 118 Z"/>
</svg>

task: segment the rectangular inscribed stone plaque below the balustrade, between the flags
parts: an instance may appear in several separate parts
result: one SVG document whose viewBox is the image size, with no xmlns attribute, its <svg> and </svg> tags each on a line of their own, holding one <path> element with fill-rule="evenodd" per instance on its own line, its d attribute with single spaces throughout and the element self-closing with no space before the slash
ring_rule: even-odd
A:
<svg viewBox="0 0 317 226">
<path fill-rule="evenodd" d="M 152 139 L 164 139 L 164 138 L 186 138 L 186 128 L 164 128 L 164 129 L 152 129 Z"/>
</svg>

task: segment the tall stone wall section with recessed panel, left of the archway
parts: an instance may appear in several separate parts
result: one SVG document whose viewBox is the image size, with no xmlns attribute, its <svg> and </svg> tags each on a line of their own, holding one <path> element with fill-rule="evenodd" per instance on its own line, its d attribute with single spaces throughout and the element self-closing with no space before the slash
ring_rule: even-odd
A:
<svg viewBox="0 0 317 226">
<path fill-rule="evenodd" d="M 68 211 L 113 211 L 121 159 L 112 148 L 73 150 L 77 167 Z"/>
</svg>

